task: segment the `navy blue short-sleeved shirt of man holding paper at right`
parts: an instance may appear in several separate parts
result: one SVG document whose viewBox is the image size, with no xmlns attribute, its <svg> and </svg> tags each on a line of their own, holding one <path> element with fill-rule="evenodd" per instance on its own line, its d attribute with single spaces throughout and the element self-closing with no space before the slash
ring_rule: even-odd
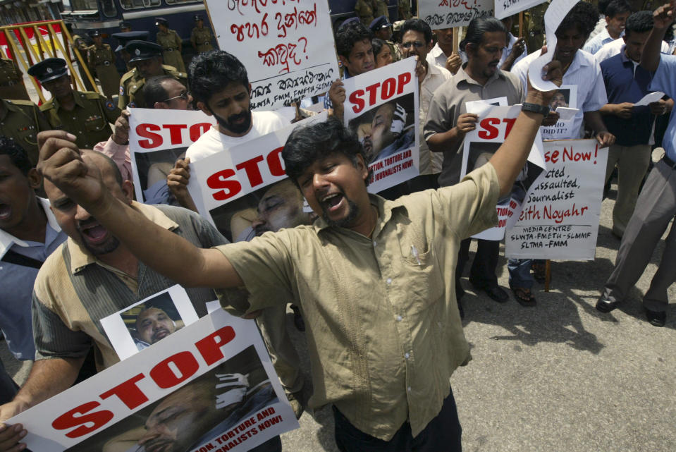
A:
<svg viewBox="0 0 676 452">
<path fill-rule="evenodd" d="M 622 102 L 634 104 L 650 92 L 648 86 L 653 80 L 653 74 L 627 58 L 624 49 L 620 51 L 620 54 L 601 63 L 601 73 L 606 83 L 609 104 L 622 104 Z M 602 117 L 608 131 L 615 135 L 617 145 L 650 144 L 655 116 L 650 113 L 648 106 L 634 106 L 632 117 L 629 119 L 613 114 Z"/>
</svg>

